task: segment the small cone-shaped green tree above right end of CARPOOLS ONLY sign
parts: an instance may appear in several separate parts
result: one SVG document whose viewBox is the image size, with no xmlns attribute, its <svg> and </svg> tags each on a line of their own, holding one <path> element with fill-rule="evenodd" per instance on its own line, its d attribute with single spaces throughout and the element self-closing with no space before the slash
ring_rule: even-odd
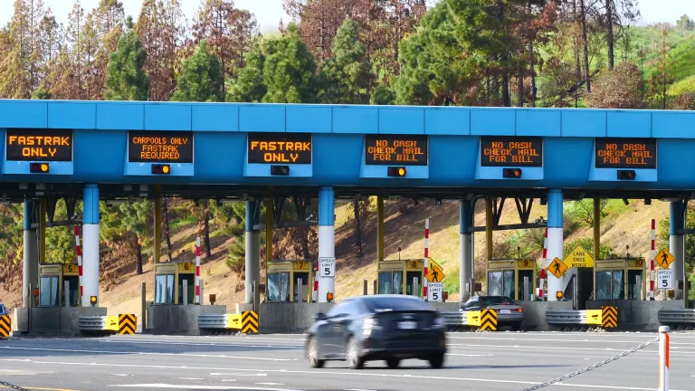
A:
<svg viewBox="0 0 695 391">
<path fill-rule="evenodd" d="M 176 92 L 171 100 L 176 101 L 224 101 L 224 77 L 222 65 L 216 55 L 207 50 L 202 41 L 195 53 L 183 63 L 176 78 Z"/>
</svg>

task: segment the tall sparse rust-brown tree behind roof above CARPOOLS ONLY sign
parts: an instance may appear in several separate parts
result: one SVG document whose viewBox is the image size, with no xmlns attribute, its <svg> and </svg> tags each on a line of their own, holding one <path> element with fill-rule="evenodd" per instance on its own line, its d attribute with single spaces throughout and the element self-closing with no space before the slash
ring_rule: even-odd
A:
<svg viewBox="0 0 695 391">
<path fill-rule="evenodd" d="M 169 100 L 176 87 L 177 52 L 186 35 L 179 0 L 145 0 L 135 28 L 146 53 L 149 100 Z"/>
</svg>

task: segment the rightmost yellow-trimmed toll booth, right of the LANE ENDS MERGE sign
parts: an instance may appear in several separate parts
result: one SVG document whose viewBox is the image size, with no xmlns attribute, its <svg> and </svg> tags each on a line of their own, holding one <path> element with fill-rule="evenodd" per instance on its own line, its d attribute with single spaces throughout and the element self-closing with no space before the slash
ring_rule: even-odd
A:
<svg viewBox="0 0 695 391">
<path fill-rule="evenodd" d="M 646 297 L 644 258 L 596 260 L 594 300 L 643 300 Z"/>
</svg>

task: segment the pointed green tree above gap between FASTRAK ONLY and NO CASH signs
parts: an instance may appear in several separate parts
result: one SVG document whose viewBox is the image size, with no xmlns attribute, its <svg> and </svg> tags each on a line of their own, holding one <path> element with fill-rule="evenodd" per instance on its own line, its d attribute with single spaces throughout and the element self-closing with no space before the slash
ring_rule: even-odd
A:
<svg viewBox="0 0 695 391">
<path fill-rule="evenodd" d="M 331 46 L 334 56 L 322 65 L 327 103 L 367 104 L 374 75 L 367 48 L 359 42 L 357 22 L 346 19 Z"/>
</svg>

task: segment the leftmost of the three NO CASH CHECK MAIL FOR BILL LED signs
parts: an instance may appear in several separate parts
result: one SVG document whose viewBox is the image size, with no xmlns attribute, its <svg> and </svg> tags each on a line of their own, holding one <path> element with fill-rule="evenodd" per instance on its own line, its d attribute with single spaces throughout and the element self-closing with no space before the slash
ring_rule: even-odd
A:
<svg viewBox="0 0 695 391">
<path fill-rule="evenodd" d="M 427 166 L 427 136 L 367 135 L 365 164 Z"/>
</svg>

